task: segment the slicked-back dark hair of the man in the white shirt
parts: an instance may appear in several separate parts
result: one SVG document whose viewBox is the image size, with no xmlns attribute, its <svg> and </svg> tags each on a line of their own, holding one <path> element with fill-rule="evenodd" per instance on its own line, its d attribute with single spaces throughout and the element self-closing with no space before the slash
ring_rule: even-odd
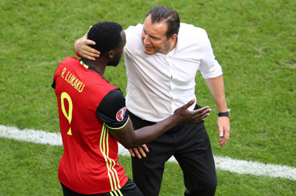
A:
<svg viewBox="0 0 296 196">
<path fill-rule="evenodd" d="M 180 17 L 178 12 L 169 9 L 164 5 L 152 7 L 146 17 L 151 15 L 152 24 L 165 22 L 167 24 L 166 39 L 168 40 L 173 34 L 179 33 Z"/>
</svg>

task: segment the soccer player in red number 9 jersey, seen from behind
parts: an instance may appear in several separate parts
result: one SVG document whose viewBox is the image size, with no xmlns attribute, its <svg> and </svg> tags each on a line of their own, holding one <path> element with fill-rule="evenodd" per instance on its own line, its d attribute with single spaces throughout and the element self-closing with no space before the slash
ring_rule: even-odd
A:
<svg viewBox="0 0 296 196">
<path fill-rule="evenodd" d="M 65 149 L 58 169 L 64 196 L 143 196 L 117 163 L 117 141 L 139 147 L 177 124 L 202 121 L 211 109 L 187 110 L 193 99 L 161 122 L 134 131 L 122 92 L 103 78 L 106 66 L 120 61 L 126 44 L 122 26 L 97 23 L 87 38 L 97 43 L 92 47 L 100 56 L 95 61 L 67 57 L 52 84 Z"/>
</svg>

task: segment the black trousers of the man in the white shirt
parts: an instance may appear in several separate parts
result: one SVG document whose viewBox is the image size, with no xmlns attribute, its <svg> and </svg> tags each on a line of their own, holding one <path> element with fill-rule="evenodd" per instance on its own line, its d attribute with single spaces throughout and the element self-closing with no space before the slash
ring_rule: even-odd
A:
<svg viewBox="0 0 296 196">
<path fill-rule="evenodd" d="M 196 106 L 195 109 L 200 108 Z M 129 112 L 129 111 L 128 111 Z M 155 123 L 142 120 L 131 112 L 134 130 Z M 214 196 L 217 186 L 214 157 L 203 121 L 177 125 L 156 140 L 146 144 L 147 157 L 132 157 L 133 182 L 144 196 L 158 196 L 164 173 L 164 163 L 172 156 L 181 166 L 185 196 Z"/>
</svg>

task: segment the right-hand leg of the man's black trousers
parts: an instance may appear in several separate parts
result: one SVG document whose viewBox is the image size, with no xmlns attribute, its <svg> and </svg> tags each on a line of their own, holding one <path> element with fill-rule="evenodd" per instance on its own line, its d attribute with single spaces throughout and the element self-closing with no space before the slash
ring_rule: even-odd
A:
<svg viewBox="0 0 296 196">
<path fill-rule="evenodd" d="M 185 187 L 191 192 L 215 191 L 217 177 L 210 139 L 203 122 L 182 127 L 183 136 L 176 153 L 176 160 L 181 166 Z"/>
</svg>

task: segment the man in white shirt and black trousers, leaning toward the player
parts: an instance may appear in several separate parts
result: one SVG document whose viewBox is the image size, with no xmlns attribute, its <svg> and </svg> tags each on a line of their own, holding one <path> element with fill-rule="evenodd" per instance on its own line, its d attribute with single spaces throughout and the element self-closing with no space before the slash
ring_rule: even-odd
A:
<svg viewBox="0 0 296 196">
<path fill-rule="evenodd" d="M 134 129 L 160 122 L 196 98 L 195 76 L 199 70 L 219 110 L 217 126 L 223 147 L 229 139 L 230 113 L 222 69 L 215 60 L 206 31 L 180 23 L 176 11 L 158 5 L 148 12 L 144 25 L 130 26 L 125 33 L 126 102 Z M 87 46 L 95 43 L 86 36 L 75 42 L 74 51 L 93 60 L 99 51 Z M 198 108 L 193 105 L 189 110 Z M 172 155 L 183 171 L 185 196 L 214 196 L 217 177 L 203 121 L 176 126 L 147 147 L 149 153 L 145 159 L 132 157 L 133 181 L 145 196 L 158 196 L 164 163 Z M 138 154 L 137 149 L 135 152 Z"/>
</svg>

